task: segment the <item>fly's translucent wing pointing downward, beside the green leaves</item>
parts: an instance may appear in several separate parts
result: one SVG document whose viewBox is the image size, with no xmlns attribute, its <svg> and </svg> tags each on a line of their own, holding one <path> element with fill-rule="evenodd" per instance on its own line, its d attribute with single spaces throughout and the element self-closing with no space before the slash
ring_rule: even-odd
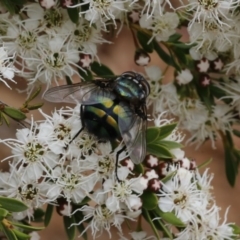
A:
<svg viewBox="0 0 240 240">
<path fill-rule="evenodd" d="M 146 155 L 147 122 L 139 117 L 129 106 L 120 103 L 118 126 L 127 147 L 129 156 L 135 164 L 141 163 Z"/>
</svg>

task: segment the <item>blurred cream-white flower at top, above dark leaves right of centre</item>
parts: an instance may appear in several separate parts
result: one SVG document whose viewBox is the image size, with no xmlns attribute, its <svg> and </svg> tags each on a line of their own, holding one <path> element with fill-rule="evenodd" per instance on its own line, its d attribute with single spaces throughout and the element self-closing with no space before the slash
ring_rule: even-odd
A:
<svg viewBox="0 0 240 240">
<path fill-rule="evenodd" d="M 140 26 L 152 31 L 152 38 L 157 41 L 167 41 L 168 38 L 176 32 L 179 24 L 179 18 L 176 13 L 166 12 L 163 15 L 158 13 L 148 18 L 147 14 L 143 14 L 140 19 Z"/>
</svg>

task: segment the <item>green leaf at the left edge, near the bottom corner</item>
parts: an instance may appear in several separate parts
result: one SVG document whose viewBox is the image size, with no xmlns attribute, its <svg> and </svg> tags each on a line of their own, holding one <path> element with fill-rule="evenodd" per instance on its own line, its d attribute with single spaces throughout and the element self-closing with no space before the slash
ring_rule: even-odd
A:
<svg viewBox="0 0 240 240">
<path fill-rule="evenodd" d="M 5 197 L 0 197 L 0 206 L 9 212 L 22 212 L 28 209 L 28 207 L 19 200 Z"/>
</svg>

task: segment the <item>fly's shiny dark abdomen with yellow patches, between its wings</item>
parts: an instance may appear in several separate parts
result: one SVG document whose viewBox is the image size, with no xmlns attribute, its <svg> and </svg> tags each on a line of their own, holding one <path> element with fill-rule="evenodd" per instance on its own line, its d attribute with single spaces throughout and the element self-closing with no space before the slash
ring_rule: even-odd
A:
<svg viewBox="0 0 240 240">
<path fill-rule="evenodd" d="M 121 139 L 118 114 L 114 112 L 116 106 L 112 100 L 84 106 L 82 120 L 89 133 L 100 139 Z"/>
</svg>

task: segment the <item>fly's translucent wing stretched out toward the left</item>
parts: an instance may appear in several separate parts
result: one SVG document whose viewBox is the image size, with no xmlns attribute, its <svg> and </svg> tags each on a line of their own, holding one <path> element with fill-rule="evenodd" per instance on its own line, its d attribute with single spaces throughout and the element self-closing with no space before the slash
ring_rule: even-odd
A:
<svg viewBox="0 0 240 240">
<path fill-rule="evenodd" d="M 93 81 L 50 88 L 44 98 L 49 102 L 66 102 L 88 105 L 115 99 L 116 95 L 98 87 Z"/>
</svg>

